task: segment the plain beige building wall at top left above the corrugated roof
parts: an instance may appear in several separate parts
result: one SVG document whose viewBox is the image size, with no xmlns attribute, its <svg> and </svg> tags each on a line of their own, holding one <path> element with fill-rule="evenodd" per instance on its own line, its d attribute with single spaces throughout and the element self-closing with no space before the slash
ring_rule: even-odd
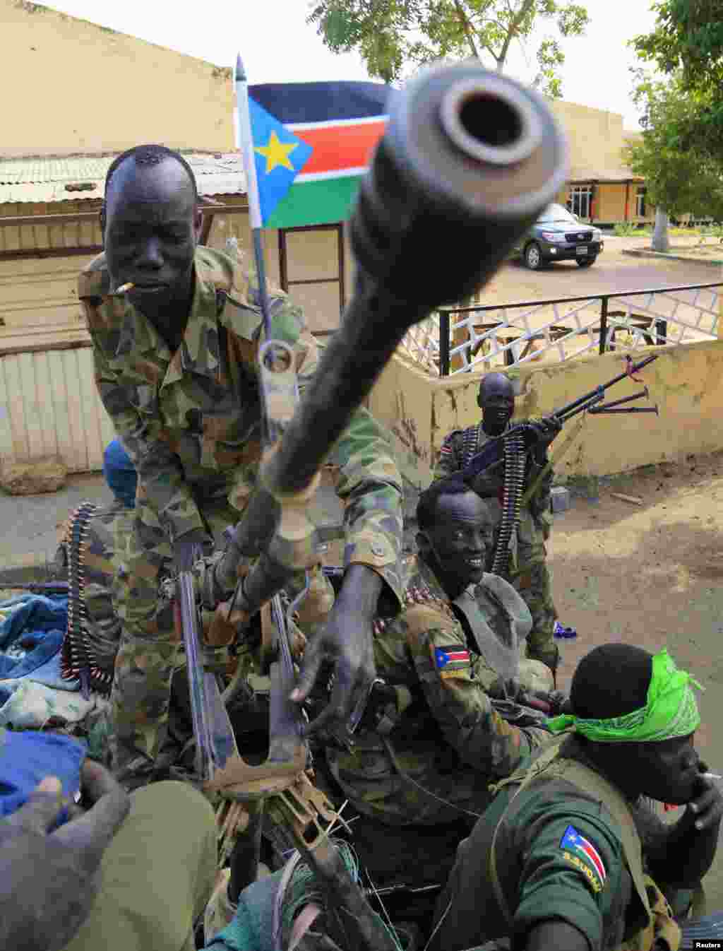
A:
<svg viewBox="0 0 723 951">
<path fill-rule="evenodd" d="M 0 0 L 0 33 L 0 155 L 235 148 L 230 68 L 26 0 Z"/>
</svg>

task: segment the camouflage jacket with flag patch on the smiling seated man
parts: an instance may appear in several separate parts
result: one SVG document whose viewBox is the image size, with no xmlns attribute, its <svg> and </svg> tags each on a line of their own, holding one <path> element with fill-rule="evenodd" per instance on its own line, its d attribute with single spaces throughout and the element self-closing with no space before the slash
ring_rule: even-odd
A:
<svg viewBox="0 0 723 951">
<path fill-rule="evenodd" d="M 517 625 L 524 636 L 529 613 L 511 585 L 485 574 L 470 590 L 501 639 L 510 639 Z M 409 563 L 404 611 L 377 622 L 374 661 L 395 688 L 394 726 L 386 735 L 358 731 L 351 752 L 330 748 L 327 760 L 352 804 L 382 822 L 437 825 L 480 812 L 489 801 L 487 785 L 549 738 L 546 730 L 506 723 L 492 708 L 487 690 L 498 673 L 419 558 Z"/>
</svg>

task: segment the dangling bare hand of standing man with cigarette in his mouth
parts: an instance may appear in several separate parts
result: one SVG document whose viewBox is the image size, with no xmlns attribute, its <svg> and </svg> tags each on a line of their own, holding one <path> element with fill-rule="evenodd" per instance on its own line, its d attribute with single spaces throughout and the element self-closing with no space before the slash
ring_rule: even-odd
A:
<svg viewBox="0 0 723 951">
<path fill-rule="evenodd" d="M 372 625 L 382 585 L 371 568 L 351 565 L 323 631 L 307 645 L 292 700 L 306 700 L 325 662 L 333 665 L 334 673 L 329 704 L 307 726 L 307 733 L 323 730 L 343 739 L 361 716 L 376 675 Z"/>
</svg>

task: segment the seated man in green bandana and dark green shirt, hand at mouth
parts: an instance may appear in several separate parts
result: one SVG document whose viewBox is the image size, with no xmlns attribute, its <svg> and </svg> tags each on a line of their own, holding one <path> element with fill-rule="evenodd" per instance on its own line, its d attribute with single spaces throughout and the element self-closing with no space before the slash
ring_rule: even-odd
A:
<svg viewBox="0 0 723 951">
<path fill-rule="evenodd" d="M 678 890 L 710 868 L 723 815 L 694 748 L 692 683 L 665 650 L 607 644 L 582 658 L 572 715 L 548 721 L 572 732 L 498 784 L 460 845 L 429 951 L 675 951 L 660 889 L 685 910 Z M 686 809 L 665 825 L 643 796 Z"/>
</svg>

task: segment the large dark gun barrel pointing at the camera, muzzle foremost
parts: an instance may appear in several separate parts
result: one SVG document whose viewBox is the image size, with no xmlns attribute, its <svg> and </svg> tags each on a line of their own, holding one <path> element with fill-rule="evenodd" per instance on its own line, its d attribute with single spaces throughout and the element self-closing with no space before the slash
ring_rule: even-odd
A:
<svg viewBox="0 0 723 951">
<path fill-rule="evenodd" d="M 423 70 L 389 112 L 349 224 L 352 301 L 217 566 L 218 600 L 235 592 L 248 615 L 313 564 L 306 507 L 320 466 L 409 327 L 483 286 L 565 182 L 566 147 L 542 98 L 476 64 Z M 284 359 L 265 372 L 286 372 Z M 231 782 L 227 766 L 213 786 Z"/>
</svg>

